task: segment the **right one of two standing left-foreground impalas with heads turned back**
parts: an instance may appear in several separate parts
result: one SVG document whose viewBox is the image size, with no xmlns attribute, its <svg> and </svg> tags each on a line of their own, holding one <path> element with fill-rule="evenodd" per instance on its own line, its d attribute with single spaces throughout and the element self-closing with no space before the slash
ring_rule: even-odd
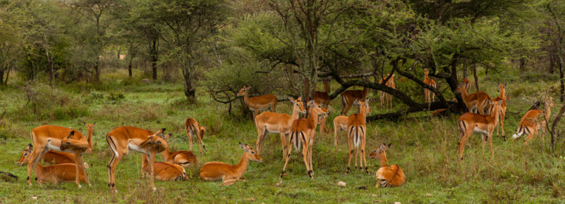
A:
<svg viewBox="0 0 565 204">
<path fill-rule="evenodd" d="M 106 135 L 106 141 L 112 151 L 112 158 L 108 163 L 108 187 L 111 191 L 117 193 L 116 190 L 116 167 L 129 151 L 135 151 L 145 155 L 149 155 L 149 168 L 150 168 L 150 181 L 153 191 L 157 190 L 153 181 L 153 164 L 155 162 L 155 155 L 164 151 L 169 145 L 160 138 L 165 129 L 159 129 L 153 133 L 147 129 L 140 129 L 138 127 L 116 127 Z"/>
</svg>

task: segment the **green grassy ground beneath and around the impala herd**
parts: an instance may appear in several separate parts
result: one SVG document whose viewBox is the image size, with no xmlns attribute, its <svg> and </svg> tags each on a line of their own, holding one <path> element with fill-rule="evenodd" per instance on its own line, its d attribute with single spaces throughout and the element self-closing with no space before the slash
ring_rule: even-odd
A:
<svg viewBox="0 0 565 204">
<path fill-rule="evenodd" d="M 139 73 L 138 73 L 139 74 Z M 537 91 L 546 89 L 556 79 L 535 74 L 523 78 L 509 78 L 507 73 L 482 77 L 482 91 L 497 96 L 497 81 L 509 83 L 507 94 L 511 113 L 505 122 L 506 136 L 515 133 L 525 110 L 536 100 Z M 287 167 L 287 176 L 281 186 L 279 174 L 284 165 L 280 137 L 269 135 L 265 140 L 264 162 L 251 162 L 241 181 L 233 186 L 198 179 L 200 167 L 209 161 L 236 164 L 243 150 L 238 142 L 255 148 L 257 131 L 251 120 L 230 116 L 227 106 L 212 101 L 207 93 L 198 90 L 196 104 L 183 101 L 180 83 L 141 84 L 140 77 L 125 79 L 125 72 L 109 72 L 103 76 L 104 85 L 85 83 L 66 84 L 51 91 L 45 85 L 27 88 L 14 85 L 0 88 L 0 104 L 8 113 L 0 120 L 0 171 L 16 174 L 19 179 L 0 180 L 0 203 L 16 202 L 88 202 L 88 203 L 275 203 L 275 202 L 401 202 L 401 203 L 560 203 L 565 198 L 565 158 L 562 139 L 557 146 L 558 157 L 549 150 L 549 136 L 525 146 L 521 141 L 503 141 L 494 137 L 494 157 L 488 147 L 482 151 L 480 135 L 473 135 L 466 146 L 465 160 L 456 159 L 458 130 L 456 117 L 426 117 L 430 113 L 410 115 L 399 121 L 377 121 L 367 125 L 367 151 L 382 143 L 391 143 L 387 158 L 400 165 L 406 174 L 406 184 L 399 188 L 375 188 L 377 160 L 368 160 L 370 174 L 353 170 L 345 176 L 347 144 L 345 134 L 339 135 L 339 146 L 333 144 L 333 134 L 316 135 L 312 160 L 314 179 L 306 174 L 303 160 L 293 153 Z M 548 79 L 549 78 L 549 79 Z M 544 80 L 541 80 L 544 79 Z M 518 84 L 518 82 L 521 82 Z M 397 84 L 400 87 L 401 84 Z M 474 87 L 473 87 L 474 90 Z M 30 100 L 25 91 L 33 93 Z M 377 96 L 374 96 L 377 98 Z M 423 98 L 423 97 L 422 97 Z M 423 100 L 423 99 L 422 99 Z M 556 101 L 557 102 L 557 101 Z M 402 108 L 396 101 L 394 108 Z M 339 100 L 328 121 L 339 113 Z M 373 113 L 384 113 L 378 101 L 372 103 Z M 553 113 L 561 103 L 557 102 Z M 288 102 L 279 103 L 279 113 L 290 113 Z M 353 110 L 355 112 L 355 110 Z M 350 111 L 350 113 L 352 113 Z M 169 141 L 172 150 L 188 150 L 188 139 L 183 132 L 186 117 L 195 117 L 207 126 L 204 142 L 208 151 L 198 155 L 199 163 L 187 170 L 189 181 L 156 181 L 157 192 L 152 193 L 149 181 L 141 179 L 140 154 L 130 152 L 116 170 L 119 193 L 110 193 L 106 165 L 111 152 L 104 136 L 115 127 L 132 125 L 144 129 L 166 128 L 174 136 Z M 29 132 L 39 125 L 73 127 L 86 134 L 82 122 L 97 122 L 93 136 L 95 153 L 84 155 L 91 167 L 87 170 L 92 186 L 78 189 L 74 183 L 33 184 L 25 181 L 27 168 L 18 167 L 20 153 L 30 143 Z M 331 128 L 331 122 L 328 122 Z M 6 139 L 4 139 L 4 137 Z M 195 146 L 195 150 L 198 146 Z M 162 160 L 159 155 L 158 160 Z M 353 166 L 353 164 L 352 164 Z M 346 182 L 345 187 L 337 186 Z M 358 187 L 366 186 L 366 189 Z"/>
</svg>

